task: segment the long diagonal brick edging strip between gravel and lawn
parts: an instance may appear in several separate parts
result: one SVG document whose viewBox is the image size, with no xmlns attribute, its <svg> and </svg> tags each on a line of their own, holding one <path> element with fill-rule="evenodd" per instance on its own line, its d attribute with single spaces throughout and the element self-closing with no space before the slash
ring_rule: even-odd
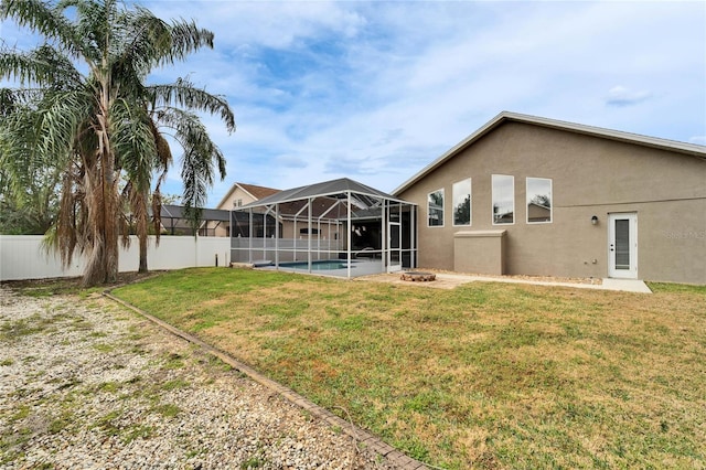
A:
<svg viewBox="0 0 706 470">
<path fill-rule="evenodd" d="M 252 380 L 254 380 L 255 382 L 257 382 L 258 384 L 261 384 L 264 386 L 266 386 L 267 388 L 277 392 L 278 394 L 280 394 L 281 396 L 284 396 L 286 399 L 288 399 L 289 402 L 293 403 L 295 405 L 306 409 L 307 412 L 311 413 L 313 416 L 329 423 L 329 425 L 333 426 L 333 427 L 339 427 L 341 428 L 346 435 L 349 435 L 350 437 L 352 437 L 353 439 L 355 439 L 359 444 L 364 445 L 365 447 L 374 450 L 375 452 L 379 453 L 381 456 L 385 457 L 387 459 L 388 462 L 391 462 L 392 464 L 394 464 L 395 467 L 397 467 L 400 470 L 422 470 L 422 469 L 428 469 L 428 467 L 418 461 L 413 459 L 409 456 L 404 455 L 403 452 L 400 452 L 399 450 L 395 449 L 394 447 L 392 447 L 391 445 L 384 442 L 383 440 L 381 440 L 379 438 L 373 436 L 372 434 L 359 428 L 357 426 L 353 425 L 352 423 L 346 421 L 345 419 L 340 418 L 339 416 L 334 415 L 333 413 L 329 412 L 328 409 L 314 404 L 313 402 L 310 402 L 309 399 L 304 398 L 303 396 L 299 395 L 297 392 L 292 391 L 291 388 L 288 388 L 268 377 L 266 377 L 265 375 L 260 374 L 259 372 L 257 372 L 255 368 L 250 367 L 249 365 L 246 365 L 244 363 L 242 363 L 240 361 L 238 361 L 237 359 L 233 357 L 231 354 L 228 354 L 227 352 L 220 350 L 217 348 L 212 346 L 208 343 L 205 343 L 204 341 L 200 340 L 199 338 L 194 337 L 193 334 L 189 334 L 173 325 L 171 325 L 170 323 L 167 323 L 163 320 L 160 320 L 159 318 L 146 312 L 145 310 L 141 310 L 137 307 L 135 307 L 133 305 L 126 302 L 122 299 L 119 299 L 117 297 L 115 297 L 113 293 L 110 293 L 110 290 L 106 290 L 103 292 L 103 295 L 105 297 L 107 297 L 108 299 L 120 303 L 121 306 L 139 313 L 140 316 L 145 317 L 146 319 L 150 320 L 151 322 L 158 324 L 159 327 L 161 327 L 162 329 L 169 331 L 170 333 L 189 341 L 190 343 L 193 344 L 197 344 L 199 346 L 201 346 L 204 351 L 208 352 L 210 354 L 213 354 L 214 356 L 218 357 L 221 361 L 225 362 L 226 364 L 231 365 L 232 367 L 236 368 L 237 371 L 242 372 L 243 374 L 247 375 L 248 377 L 250 377 Z"/>
</svg>

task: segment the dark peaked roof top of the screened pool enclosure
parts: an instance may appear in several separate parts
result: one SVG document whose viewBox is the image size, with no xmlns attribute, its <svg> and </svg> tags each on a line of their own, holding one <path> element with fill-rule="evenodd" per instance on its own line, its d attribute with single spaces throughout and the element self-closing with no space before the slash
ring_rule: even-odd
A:
<svg viewBox="0 0 706 470">
<path fill-rule="evenodd" d="M 291 190 L 284 190 L 268 197 L 261 199 L 249 204 L 245 204 L 239 209 L 260 207 L 264 205 L 281 204 L 287 202 L 300 201 L 309 197 L 333 197 L 343 199 L 347 193 L 355 194 L 357 201 L 361 199 L 375 197 L 387 199 L 398 202 L 402 201 L 394 195 L 384 193 L 371 186 L 367 186 L 357 181 L 353 181 L 347 178 L 341 178 L 339 180 L 324 181 L 322 183 L 309 184 L 307 186 L 293 188 Z M 363 197 L 360 197 L 363 196 Z"/>
</svg>

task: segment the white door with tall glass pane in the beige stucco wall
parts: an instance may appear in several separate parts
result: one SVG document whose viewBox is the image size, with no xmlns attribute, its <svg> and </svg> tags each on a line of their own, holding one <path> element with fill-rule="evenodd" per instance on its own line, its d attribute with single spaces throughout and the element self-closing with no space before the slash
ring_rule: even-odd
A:
<svg viewBox="0 0 706 470">
<path fill-rule="evenodd" d="M 608 276 L 638 278 L 638 214 L 609 214 Z"/>
</svg>

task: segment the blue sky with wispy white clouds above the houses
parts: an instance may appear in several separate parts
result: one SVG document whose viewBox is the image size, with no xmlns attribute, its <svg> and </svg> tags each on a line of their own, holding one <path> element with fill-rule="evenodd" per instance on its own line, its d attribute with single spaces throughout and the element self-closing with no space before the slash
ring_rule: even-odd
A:
<svg viewBox="0 0 706 470">
<path fill-rule="evenodd" d="M 228 161 L 210 206 L 235 181 L 392 191 L 503 110 L 706 143 L 702 1 L 141 4 L 215 33 L 150 78 L 189 75 L 235 111 L 229 136 L 204 118 Z M 21 34 L 0 23 L 7 43 Z"/>
</svg>

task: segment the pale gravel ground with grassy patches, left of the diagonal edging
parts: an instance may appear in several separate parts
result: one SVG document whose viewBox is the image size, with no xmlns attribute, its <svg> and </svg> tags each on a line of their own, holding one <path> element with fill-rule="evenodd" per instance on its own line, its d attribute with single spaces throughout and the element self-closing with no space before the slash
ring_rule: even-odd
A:
<svg viewBox="0 0 706 470">
<path fill-rule="evenodd" d="M 388 469 L 341 429 L 96 295 L 0 286 L 0 469 Z"/>
</svg>

